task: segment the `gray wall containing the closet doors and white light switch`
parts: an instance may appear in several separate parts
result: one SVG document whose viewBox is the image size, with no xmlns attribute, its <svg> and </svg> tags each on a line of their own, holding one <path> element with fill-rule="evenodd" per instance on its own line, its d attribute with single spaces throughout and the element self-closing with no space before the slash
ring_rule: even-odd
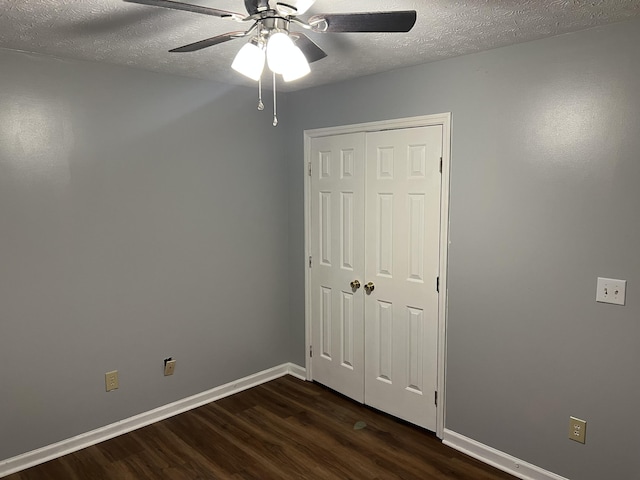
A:
<svg viewBox="0 0 640 480">
<path fill-rule="evenodd" d="M 635 478 L 638 45 L 634 21 L 290 94 L 293 360 L 303 129 L 452 112 L 446 427 L 571 479 Z M 597 276 L 626 279 L 627 305 L 597 304 Z"/>
</svg>

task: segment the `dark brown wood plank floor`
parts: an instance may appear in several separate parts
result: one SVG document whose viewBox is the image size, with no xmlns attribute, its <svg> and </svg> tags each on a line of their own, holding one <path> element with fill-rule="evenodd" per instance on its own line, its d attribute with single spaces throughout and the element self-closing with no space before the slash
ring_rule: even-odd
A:
<svg viewBox="0 0 640 480">
<path fill-rule="evenodd" d="M 6 480 L 513 478 L 424 430 L 286 376 Z"/>
</svg>

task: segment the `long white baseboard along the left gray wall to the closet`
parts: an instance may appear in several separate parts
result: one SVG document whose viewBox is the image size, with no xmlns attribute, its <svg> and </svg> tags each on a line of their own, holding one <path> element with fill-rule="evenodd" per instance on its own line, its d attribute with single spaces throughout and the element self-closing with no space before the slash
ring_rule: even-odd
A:
<svg viewBox="0 0 640 480">
<path fill-rule="evenodd" d="M 262 372 L 249 375 L 248 377 L 229 382 L 225 385 L 220 385 L 219 387 L 212 388 L 206 392 L 198 393 L 191 397 L 178 400 L 177 402 L 120 420 L 119 422 L 112 423 L 111 425 L 106 425 L 104 427 L 97 428 L 96 430 L 82 433 L 75 437 L 62 440 L 61 442 L 47 445 L 46 447 L 42 447 L 31 452 L 23 453 L 22 455 L 8 458 L 6 460 L 0 460 L 0 478 L 33 467 L 40 463 L 48 462 L 54 458 L 76 452 L 91 445 L 104 442 L 105 440 L 137 430 L 138 428 L 146 427 L 147 425 L 159 422 L 165 418 L 173 417 L 174 415 L 215 402 L 221 398 L 261 385 L 284 375 L 292 375 L 302 380 L 306 378 L 305 369 L 303 367 L 293 363 L 284 363 L 277 367 L 263 370 Z"/>
</svg>

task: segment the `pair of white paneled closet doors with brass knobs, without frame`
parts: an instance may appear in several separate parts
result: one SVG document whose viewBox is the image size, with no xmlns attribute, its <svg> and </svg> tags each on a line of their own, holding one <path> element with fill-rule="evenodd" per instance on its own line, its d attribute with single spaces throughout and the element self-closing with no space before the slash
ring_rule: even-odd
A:
<svg viewBox="0 0 640 480">
<path fill-rule="evenodd" d="M 442 134 L 311 140 L 313 379 L 434 431 Z"/>
</svg>

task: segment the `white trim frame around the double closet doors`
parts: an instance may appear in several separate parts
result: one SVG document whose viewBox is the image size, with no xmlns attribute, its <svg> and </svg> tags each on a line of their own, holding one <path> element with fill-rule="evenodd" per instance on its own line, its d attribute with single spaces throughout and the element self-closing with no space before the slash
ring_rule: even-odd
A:
<svg viewBox="0 0 640 480">
<path fill-rule="evenodd" d="M 444 436 L 446 406 L 446 361 L 447 361 L 447 266 L 449 254 L 449 178 L 451 168 L 451 113 L 398 118 L 379 122 L 359 123 L 336 127 L 317 128 L 304 131 L 304 289 L 305 289 L 305 367 L 307 380 L 313 380 L 311 369 L 311 140 L 317 137 L 342 135 L 347 133 L 367 133 L 403 128 L 442 126 L 442 189 L 440 192 L 440 292 L 438 294 L 438 366 L 436 407 L 436 435 Z"/>
</svg>

